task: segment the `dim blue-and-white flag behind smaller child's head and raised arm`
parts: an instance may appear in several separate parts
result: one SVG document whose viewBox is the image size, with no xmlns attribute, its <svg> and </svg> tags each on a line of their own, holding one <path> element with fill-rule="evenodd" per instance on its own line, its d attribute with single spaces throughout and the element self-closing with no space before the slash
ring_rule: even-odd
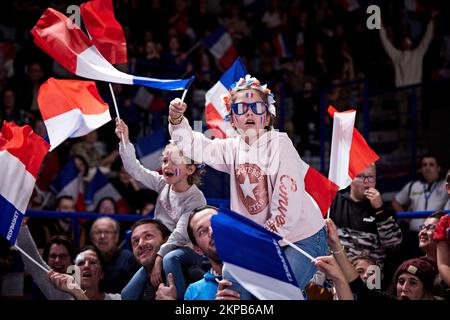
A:
<svg viewBox="0 0 450 320">
<path fill-rule="evenodd" d="M 141 164 L 149 170 L 161 169 L 161 156 L 166 145 L 166 135 L 162 129 L 136 141 L 136 154 Z"/>
</svg>

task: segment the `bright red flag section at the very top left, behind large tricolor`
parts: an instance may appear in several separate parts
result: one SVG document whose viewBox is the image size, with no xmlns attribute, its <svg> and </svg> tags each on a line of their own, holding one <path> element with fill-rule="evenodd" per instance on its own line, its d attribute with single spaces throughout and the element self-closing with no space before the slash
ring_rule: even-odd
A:
<svg viewBox="0 0 450 320">
<path fill-rule="evenodd" d="M 93 0 L 81 5 L 84 25 L 92 42 L 111 64 L 127 62 L 127 43 L 114 17 L 112 0 Z"/>
</svg>

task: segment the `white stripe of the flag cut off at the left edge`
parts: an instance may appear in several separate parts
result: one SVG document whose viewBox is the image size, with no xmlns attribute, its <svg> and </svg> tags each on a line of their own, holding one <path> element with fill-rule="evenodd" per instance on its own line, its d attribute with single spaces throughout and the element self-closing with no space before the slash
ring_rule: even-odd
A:
<svg viewBox="0 0 450 320">
<path fill-rule="evenodd" d="M 0 151 L 0 163 L 0 194 L 17 210 L 25 213 L 36 179 L 18 158 L 6 150 Z"/>
</svg>

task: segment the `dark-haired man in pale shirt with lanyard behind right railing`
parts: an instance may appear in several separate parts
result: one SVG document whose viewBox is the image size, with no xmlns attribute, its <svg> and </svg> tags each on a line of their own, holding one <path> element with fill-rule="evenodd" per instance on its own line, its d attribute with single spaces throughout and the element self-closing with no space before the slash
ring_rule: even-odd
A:
<svg viewBox="0 0 450 320">
<path fill-rule="evenodd" d="M 442 210 L 448 199 L 445 192 L 445 180 L 440 177 L 441 166 L 439 159 L 434 154 L 426 154 L 420 161 L 420 173 L 418 180 L 408 182 L 392 200 L 392 208 L 396 211 L 435 211 Z M 425 219 L 413 219 L 409 224 L 409 230 L 414 233 L 413 239 L 417 239 L 419 226 Z"/>
</svg>

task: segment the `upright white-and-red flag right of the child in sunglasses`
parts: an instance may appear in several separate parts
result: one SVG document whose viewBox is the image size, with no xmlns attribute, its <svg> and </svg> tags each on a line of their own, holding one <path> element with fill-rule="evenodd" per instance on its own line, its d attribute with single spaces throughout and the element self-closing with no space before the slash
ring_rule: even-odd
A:
<svg viewBox="0 0 450 320">
<path fill-rule="evenodd" d="M 345 189 L 358 173 L 380 157 L 354 128 L 355 111 L 337 112 L 329 106 L 328 113 L 334 118 L 329 178 Z"/>
</svg>

